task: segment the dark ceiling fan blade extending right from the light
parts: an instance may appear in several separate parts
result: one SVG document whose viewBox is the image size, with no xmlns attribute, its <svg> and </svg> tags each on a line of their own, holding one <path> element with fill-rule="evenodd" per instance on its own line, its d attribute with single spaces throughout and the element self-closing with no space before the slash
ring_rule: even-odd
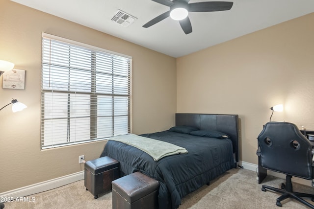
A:
<svg viewBox="0 0 314 209">
<path fill-rule="evenodd" d="M 188 11 L 189 12 L 224 11 L 224 10 L 230 10 L 233 4 L 234 2 L 229 2 L 229 1 L 206 1 L 206 2 L 189 3 Z"/>
</svg>

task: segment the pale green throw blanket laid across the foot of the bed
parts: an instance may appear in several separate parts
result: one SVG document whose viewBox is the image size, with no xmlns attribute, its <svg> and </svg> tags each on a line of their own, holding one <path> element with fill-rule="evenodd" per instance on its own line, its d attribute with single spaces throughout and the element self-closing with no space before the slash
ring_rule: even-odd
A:
<svg viewBox="0 0 314 209">
<path fill-rule="evenodd" d="M 154 161 L 158 161 L 159 159 L 169 155 L 187 153 L 187 150 L 183 147 L 165 141 L 141 137 L 135 134 L 118 135 L 111 137 L 108 140 L 120 141 L 136 147 L 152 156 Z"/>
</svg>

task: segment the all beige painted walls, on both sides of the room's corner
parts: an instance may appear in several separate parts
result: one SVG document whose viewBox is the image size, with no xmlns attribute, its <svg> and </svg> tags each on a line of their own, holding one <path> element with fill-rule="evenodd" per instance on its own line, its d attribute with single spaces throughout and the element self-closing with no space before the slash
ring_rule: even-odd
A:
<svg viewBox="0 0 314 209">
<path fill-rule="evenodd" d="M 0 59 L 26 70 L 26 89 L 0 88 L 0 193 L 83 170 L 78 156 L 99 157 L 105 142 L 40 151 L 41 33 L 133 57 L 133 133 L 164 130 L 174 113 L 238 114 L 240 159 L 257 163 L 257 136 L 278 103 L 286 120 L 314 129 L 314 14 L 176 59 L 107 34 L 0 0 Z M 177 71 L 176 71 L 177 68 Z M 0 79 L 2 86 L 2 79 Z M 177 95 L 177 98 L 175 97 Z M 154 118 L 154 119 L 152 119 Z"/>
</svg>

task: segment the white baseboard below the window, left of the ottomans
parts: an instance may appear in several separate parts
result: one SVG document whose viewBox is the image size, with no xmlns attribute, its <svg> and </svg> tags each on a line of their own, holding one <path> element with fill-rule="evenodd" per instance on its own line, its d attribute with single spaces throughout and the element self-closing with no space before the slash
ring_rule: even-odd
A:
<svg viewBox="0 0 314 209">
<path fill-rule="evenodd" d="M 47 191 L 60 186 L 68 185 L 84 179 L 84 171 L 62 176 L 45 182 L 24 186 L 10 191 L 0 193 L 0 197 L 14 198 L 25 197 L 39 192 Z"/>
</svg>

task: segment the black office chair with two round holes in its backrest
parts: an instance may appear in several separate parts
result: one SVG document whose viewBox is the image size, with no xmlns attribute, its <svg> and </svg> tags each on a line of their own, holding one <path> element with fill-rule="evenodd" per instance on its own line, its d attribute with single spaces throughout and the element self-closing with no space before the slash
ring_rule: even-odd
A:
<svg viewBox="0 0 314 209">
<path fill-rule="evenodd" d="M 293 123 L 268 122 L 258 136 L 258 141 L 257 154 L 262 167 L 286 174 L 286 184 L 282 184 L 281 188 L 263 185 L 262 191 L 269 189 L 282 193 L 276 202 L 279 207 L 282 207 L 282 200 L 290 197 L 314 209 L 314 205 L 301 198 L 310 197 L 314 201 L 314 194 L 294 192 L 291 183 L 292 176 L 313 180 L 312 145 L 309 139 Z"/>
</svg>

